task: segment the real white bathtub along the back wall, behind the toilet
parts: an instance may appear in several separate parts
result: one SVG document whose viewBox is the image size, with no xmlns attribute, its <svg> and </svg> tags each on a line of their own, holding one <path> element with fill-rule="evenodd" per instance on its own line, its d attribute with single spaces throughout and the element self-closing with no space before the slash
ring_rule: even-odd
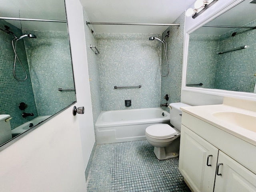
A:
<svg viewBox="0 0 256 192">
<path fill-rule="evenodd" d="M 161 108 L 103 111 L 95 124 L 97 143 L 145 140 L 148 126 L 168 122 L 170 114 Z"/>
</svg>

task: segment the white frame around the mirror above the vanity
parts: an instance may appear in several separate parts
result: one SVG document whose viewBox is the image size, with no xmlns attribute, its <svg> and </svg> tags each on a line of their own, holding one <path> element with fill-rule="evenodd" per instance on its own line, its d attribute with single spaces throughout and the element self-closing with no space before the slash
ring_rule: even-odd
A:
<svg viewBox="0 0 256 192">
<path fill-rule="evenodd" d="M 225 96 L 225 97 L 233 97 L 233 98 L 242 98 L 248 100 L 256 101 L 256 93 L 250 92 L 237 92 L 237 91 L 228 91 L 221 89 L 209 89 L 209 88 L 198 88 L 198 87 L 189 87 L 186 86 L 186 70 L 187 70 L 187 61 L 188 61 L 188 45 L 189 45 L 189 35 L 200 28 L 201 26 L 207 24 L 214 18 L 220 16 L 224 12 L 230 10 L 240 2 L 244 0 L 230 0 L 226 4 L 220 4 L 217 2 L 210 8 L 208 8 L 204 13 L 202 13 L 199 17 L 190 20 L 190 18 L 185 18 L 185 32 L 184 32 L 184 48 L 183 48 L 183 63 L 182 63 L 182 86 L 181 89 L 184 91 L 190 92 L 198 92 L 203 94 L 210 94 L 216 96 Z M 201 20 L 200 20 L 201 19 Z M 187 22 L 190 20 L 191 22 Z M 192 24 L 187 24 L 192 23 Z"/>
</svg>

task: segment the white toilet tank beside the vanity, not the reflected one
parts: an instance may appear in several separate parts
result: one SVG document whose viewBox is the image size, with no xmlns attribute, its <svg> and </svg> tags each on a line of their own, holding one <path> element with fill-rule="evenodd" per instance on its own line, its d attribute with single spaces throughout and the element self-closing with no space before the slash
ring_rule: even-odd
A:
<svg viewBox="0 0 256 192">
<path fill-rule="evenodd" d="M 171 103 L 169 104 L 170 108 L 170 123 L 180 131 L 181 127 L 181 114 L 182 111 L 180 107 L 187 107 L 190 106 L 184 103 Z"/>
</svg>

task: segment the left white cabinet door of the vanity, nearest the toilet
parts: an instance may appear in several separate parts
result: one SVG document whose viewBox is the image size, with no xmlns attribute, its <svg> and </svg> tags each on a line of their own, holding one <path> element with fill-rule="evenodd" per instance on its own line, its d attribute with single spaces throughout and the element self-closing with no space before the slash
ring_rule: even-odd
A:
<svg viewBox="0 0 256 192">
<path fill-rule="evenodd" d="M 179 170 L 197 192 L 213 192 L 218 149 L 182 125 Z"/>
</svg>

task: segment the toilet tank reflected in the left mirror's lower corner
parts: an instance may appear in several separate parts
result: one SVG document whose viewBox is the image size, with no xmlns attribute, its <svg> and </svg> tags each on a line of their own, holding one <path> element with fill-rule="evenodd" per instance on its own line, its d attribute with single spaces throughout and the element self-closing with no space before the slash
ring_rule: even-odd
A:
<svg viewBox="0 0 256 192">
<path fill-rule="evenodd" d="M 0 115 L 0 145 L 12 138 L 10 115 Z"/>
</svg>

